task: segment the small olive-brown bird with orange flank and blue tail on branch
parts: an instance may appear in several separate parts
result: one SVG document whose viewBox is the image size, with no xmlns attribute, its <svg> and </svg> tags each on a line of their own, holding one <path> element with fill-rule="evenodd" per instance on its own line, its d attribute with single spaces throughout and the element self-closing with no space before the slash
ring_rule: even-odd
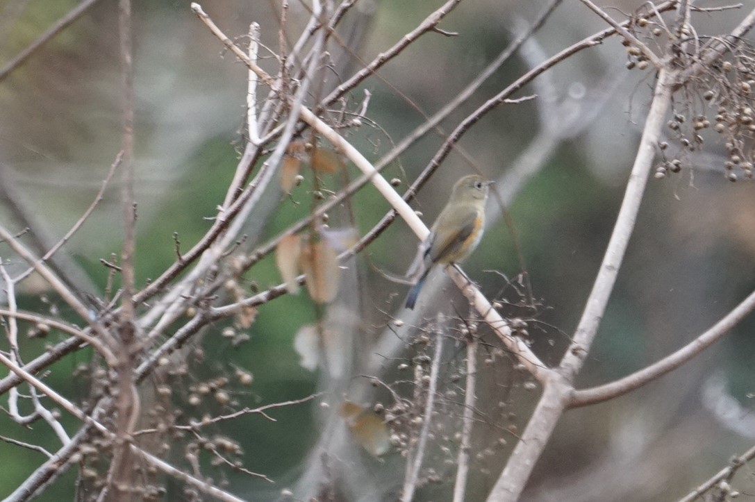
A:
<svg viewBox="0 0 755 502">
<path fill-rule="evenodd" d="M 436 263 L 461 263 L 479 244 L 485 228 L 485 200 L 493 181 L 477 174 L 458 180 L 451 198 L 430 228 L 430 235 L 420 244 L 417 257 L 407 276 L 414 286 L 406 297 L 408 309 L 414 309 L 427 275 Z"/>
</svg>

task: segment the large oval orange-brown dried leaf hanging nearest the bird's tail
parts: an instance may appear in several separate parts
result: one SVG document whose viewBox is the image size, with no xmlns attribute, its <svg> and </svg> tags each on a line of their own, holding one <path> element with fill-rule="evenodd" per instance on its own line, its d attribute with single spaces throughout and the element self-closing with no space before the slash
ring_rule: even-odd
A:
<svg viewBox="0 0 755 502">
<path fill-rule="evenodd" d="M 317 303 L 328 303 L 338 292 L 341 269 L 338 259 L 325 240 L 310 242 L 301 249 L 299 266 L 304 273 L 304 282 L 310 297 Z"/>
</svg>

